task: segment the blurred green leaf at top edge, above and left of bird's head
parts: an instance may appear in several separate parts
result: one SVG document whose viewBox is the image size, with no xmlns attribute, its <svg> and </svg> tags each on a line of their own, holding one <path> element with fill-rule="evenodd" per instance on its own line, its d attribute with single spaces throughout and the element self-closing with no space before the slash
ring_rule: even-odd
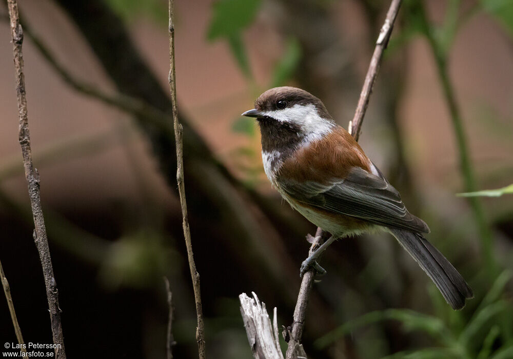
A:
<svg viewBox="0 0 513 359">
<path fill-rule="evenodd" d="M 254 20 L 261 0 L 220 0 L 213 5 L 213 17 L 207 38 L 240 36 Z"/>
</svg>

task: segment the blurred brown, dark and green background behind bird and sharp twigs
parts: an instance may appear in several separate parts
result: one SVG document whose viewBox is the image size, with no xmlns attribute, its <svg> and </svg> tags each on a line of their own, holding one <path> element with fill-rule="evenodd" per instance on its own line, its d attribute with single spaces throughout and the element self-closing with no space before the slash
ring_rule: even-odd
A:
<svg viewBox="0 0 513 359">
<path fill-rule="evenodd" d="M 291 324 L 305 235 L 315 231 L 270 188 L 258 128 L 239 114 L 267 88 L 292 85 L 320 97 L 347 128 L 388 6 L 176 1 L 177 99 L 208 357 L 251 357 L 242 292 L 256 292 L 267 308 L 278 307 L 280 325 Z M 173 293 L 173 354 L 197 357 L 174 139 L 157 121 L 171 124 L 167 2 L 20 0 L 19 7 L 32 150 L 68 357 L 164 358 L 164 276 Z M 0 260 L 25 341 L 51 343 L 6 13 L 0 6 Z M 456 196 L 513 183 L 513 3 L 409 0 L 399 14 L 360 143 L 476 297 L 453 312 L 391 236 L 346 238 L 322 260 L 328 275 L 311 294 L 306 352 L 513 358 L 512 197 Z M 122 95 L 146 106 L 123 105 Z M 470 159 L 464 171 L 462 151 Z M 16 342 L 2 302 L 0 338 Z"/>
</svg>

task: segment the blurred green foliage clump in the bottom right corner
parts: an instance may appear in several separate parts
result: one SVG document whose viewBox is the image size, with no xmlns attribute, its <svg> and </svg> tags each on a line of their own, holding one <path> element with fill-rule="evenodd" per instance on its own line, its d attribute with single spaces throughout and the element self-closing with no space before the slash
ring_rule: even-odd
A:
<svg viewBox="0 0 513 359">
<path fill-rule="evenodd" d="M 409 309 L 387 309 L 364 314 L 348 321 L 315 341 L 324 349 L 344 335 L 383 321 L 398 321 L 405 332 L 429 335 L 439 346 L 399 352 L 387 358 L 511 358 L 513 357 L 513 307 L 504 289 L 513 277 L 510 270 L 500 274 L 466 323 L 462 312 L 442 310 L 426 315 Z M 438 293 L 435 293 L 438 295 Z M 434 304 L 434 303 L 433 303 Z"/>
</svg>

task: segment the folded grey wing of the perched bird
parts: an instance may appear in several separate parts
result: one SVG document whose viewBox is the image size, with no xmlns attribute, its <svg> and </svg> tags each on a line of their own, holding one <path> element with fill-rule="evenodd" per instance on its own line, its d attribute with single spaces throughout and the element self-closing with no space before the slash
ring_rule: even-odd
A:
<svg viewBox="0 0 513 359">
<path fill-rule="evenodd" d="M 353 167 L 345 179 L 333 179 L 328 184 L 282 180 L 280 186 L 295 200 L 318 208 L 381 226 L 429 232 L 424 221 L 406 210 L 399 192 L 382 175 L 360 167 Z"/>
</svg>

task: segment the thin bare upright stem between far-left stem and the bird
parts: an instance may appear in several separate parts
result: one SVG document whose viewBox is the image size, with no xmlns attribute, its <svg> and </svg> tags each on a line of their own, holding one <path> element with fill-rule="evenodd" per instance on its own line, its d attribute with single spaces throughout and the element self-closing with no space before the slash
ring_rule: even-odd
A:
<svg viewBox="0 0 513 359">
<path fill-rule="evenodd" d="M 185 245 L 187 247 L 187 257 L 189 269 L 192 277 L 192 287 L 194 290 L 194 301 L 196 303 L 196 316 L 198 317 L 198 327 L 196 327 L 196 342 L 198 342 L 198 353 L 200 359 L 205 359 L 205 325 L 203 323 L 203 310 L 201 304 L 200 274 L 196 270 L 194 255 L 192 253 L 191 233 L 189 229 L 189 220 L 187 217 L 187 203 L 185 200 L 184 185 L 184 154 L 183 154 L 183 127 L 178 122 L 178 112 L 176 109 L 176 77 L 174 65 L 174 1 L 169 0 L 169 87 L 171 90 L 171 102 L 173 107 L 173 124 L 176 141 L 176 181 L 180 193 L 180 204 L 182 206 L 183 228 Z"/>
</svg>

